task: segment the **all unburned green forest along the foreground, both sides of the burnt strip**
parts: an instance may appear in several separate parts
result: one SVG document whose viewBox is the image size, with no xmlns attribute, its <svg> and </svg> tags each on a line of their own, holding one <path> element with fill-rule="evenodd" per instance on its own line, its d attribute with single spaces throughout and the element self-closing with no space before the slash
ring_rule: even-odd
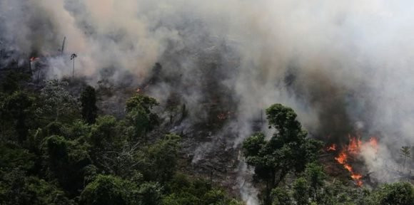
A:
<svg viewBox="0 0 414 205">
<path fill-rule="evenodd" d="M 0 204 L 244 204 L 186 172 L 186 136 L 163 129 L 156 99 L 134 93 L 126 115 L 114 117 L 97 107 L 101 88 L 81 83 L 73 93 L 77 81 L 33 85 L 30 77 L 9 70 L 1 80 Z M 191 112 L 181 109 L 180 118 Z M 266 116 L 273 136 L 258 132 L 241 148 L 261 204 L 413 204 L 408 182 L 366 189 L 326 174 L 323 142 L 308 137 L 290 107 L 274 104 Z"/>
</svg>

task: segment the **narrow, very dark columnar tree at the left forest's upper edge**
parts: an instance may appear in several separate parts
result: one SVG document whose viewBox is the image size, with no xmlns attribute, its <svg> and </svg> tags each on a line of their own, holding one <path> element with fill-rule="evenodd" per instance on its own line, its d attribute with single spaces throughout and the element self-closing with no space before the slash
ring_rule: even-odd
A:
<svg viewBox="0 0 414 205">
<path fill-rule="evenodd" d="M 91 86 L 86 86 L 81 94 L 82 117 L 89 124 L 94 124 L 98 115 L 96 107 L 96 93 Z"/>
</svg>

